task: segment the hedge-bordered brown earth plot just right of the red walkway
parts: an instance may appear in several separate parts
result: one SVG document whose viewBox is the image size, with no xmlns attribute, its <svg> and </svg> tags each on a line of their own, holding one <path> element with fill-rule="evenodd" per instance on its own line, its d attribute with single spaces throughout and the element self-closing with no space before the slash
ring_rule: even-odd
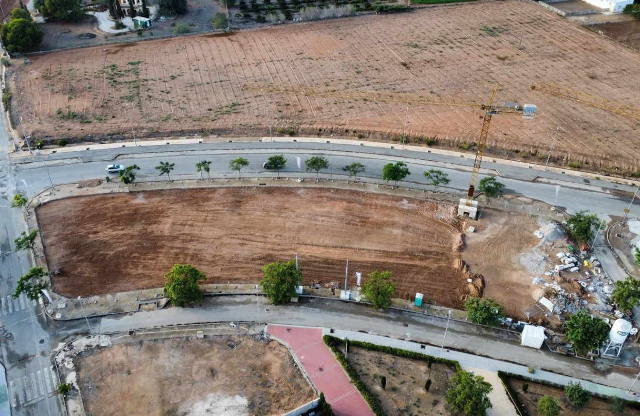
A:
<svg viewBox="0 0 640 416">
<path fill-rule="evenodd" d="M 351 346 L 347 358 L 385 415 L 449 415 L 445 394 L 456 373 L 454 367 L 433 363 L 429 368 L 424 361 Z M 380 386 L 382 376 L 387 378 L 385 390 Z M 424 390 L 427 379 L 431 380 L 428 392 Z"/>
</svg>

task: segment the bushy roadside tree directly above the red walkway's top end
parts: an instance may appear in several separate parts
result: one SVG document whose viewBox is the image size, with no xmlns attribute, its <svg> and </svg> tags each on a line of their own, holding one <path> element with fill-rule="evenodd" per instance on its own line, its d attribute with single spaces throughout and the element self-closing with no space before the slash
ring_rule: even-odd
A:
<svg viewBox="0 0 640 416">
<path fill-rule="evenodd" d="M 296 260 L 276 261 L 262 268 L 262 291 L 274 305 L 288 304 L 296 296 L 296 287 L 302 284 L 302 270 L 296 270 Z"/>
</svg>

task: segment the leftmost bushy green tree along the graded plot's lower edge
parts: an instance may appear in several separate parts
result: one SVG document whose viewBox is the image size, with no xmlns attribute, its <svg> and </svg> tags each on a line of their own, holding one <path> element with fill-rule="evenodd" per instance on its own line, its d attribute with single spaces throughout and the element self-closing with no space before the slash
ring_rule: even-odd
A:
<svg viewBox="0 0 640 416">
<path fill-rule="evenodd" d="M 202 289 L 198 281 L 207 279 L 204 273 L 191 265 L 175 264 L 164 275 L 164 296 L 176 306 L 188 306 L 202 300 Z"/>
</svg>

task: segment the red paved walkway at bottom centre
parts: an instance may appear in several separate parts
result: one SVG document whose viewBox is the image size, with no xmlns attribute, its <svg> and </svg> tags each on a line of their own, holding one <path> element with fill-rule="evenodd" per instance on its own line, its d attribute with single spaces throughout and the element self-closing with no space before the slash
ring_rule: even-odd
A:
<svg viewBox="0 0 640 416">
<path fill-rule="evenodd" d="M 316 389 L 324 393 L 336 416 L 372 416 L 351 379 L 322 341 L 321 328 L 268 325 L 269 334 L 289 344 Z"/>
</svg>

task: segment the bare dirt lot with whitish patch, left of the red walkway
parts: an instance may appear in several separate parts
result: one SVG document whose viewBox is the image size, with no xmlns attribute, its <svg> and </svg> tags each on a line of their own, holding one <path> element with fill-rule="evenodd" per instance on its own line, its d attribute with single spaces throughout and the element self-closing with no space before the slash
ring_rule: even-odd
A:
<svg viewBox="0 0 640 416">
<path fill-rule="evenodd" d="M 316 396 L 287 348 L 248 336 L 116 344 L 83 353 L 76 367 L 96 416 L 280 415 Z"/>
</svg>

